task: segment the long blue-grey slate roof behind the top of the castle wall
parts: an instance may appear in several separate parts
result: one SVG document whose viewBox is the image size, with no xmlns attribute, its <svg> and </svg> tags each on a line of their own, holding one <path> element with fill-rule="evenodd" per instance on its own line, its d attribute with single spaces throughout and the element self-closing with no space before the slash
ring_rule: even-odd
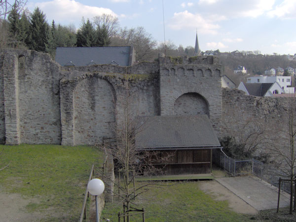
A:
<svg viewBox="0 0 296 222">
<path fill-rule="evenodd" d="M 131 66 L 133 47 L 58 47 L 55 61 L 61 66 L 113 64 Z"/>
</svg>

